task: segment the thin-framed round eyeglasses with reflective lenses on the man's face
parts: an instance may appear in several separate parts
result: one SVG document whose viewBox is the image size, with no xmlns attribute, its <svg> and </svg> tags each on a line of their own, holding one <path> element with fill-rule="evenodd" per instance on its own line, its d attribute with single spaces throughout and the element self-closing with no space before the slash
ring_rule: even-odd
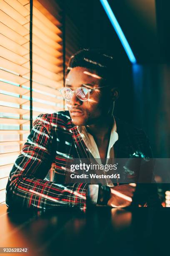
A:
<svg viewBox="0 0 170 256">
<path fill-rule="evenodd" d="M 70 101 L 72 99 L 73 94 L 75 94 L 79 100 L 87 101 L 90 98 L 90 92 L 100 89 L 100 88 L 103 88 L 103 87 L 107 87 L 107 86 L 110 86 L 110 85 L 97 87 L 95 89 L 87 89 L 85 87 L 76 87 L 76 88 L 74 88 L 76 90 L 72 90 L 70 88 L 63 87 L 63 88 L 59 89 L 59 91 L 60 91 L 62 97 L 67 101 Z"/>
</svg>

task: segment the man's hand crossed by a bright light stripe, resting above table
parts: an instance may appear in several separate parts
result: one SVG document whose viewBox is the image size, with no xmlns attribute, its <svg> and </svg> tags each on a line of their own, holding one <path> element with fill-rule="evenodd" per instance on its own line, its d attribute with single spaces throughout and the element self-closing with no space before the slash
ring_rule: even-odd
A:
<svg viewBox="0 0 170 256">
<path fill-rule="evenodd" d="M 123 184 L 110 188 L 110 199 L 107 202 L 111 207 L 127 207 L 132 202 L 133 193 L 135 192 L 135 183 Z"/>
</svg>

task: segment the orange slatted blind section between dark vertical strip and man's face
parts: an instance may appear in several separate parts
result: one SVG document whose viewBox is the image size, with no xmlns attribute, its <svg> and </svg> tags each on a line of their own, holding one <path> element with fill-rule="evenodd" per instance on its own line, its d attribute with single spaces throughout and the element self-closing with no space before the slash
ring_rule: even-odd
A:
<svg viewBox="0 0 170 256">
<path fill-rule="evenodd" d="M 27 6 L 29 9 L 29 5 Z M 25 24 L 28 29 L 29 24 Z M 57 20 L 40 3 L 32 9 L 32 110 L 37 114 L 63 110 L 64 102 L 57 90 L 63 87 L 62 31 Z M 27 37 L 28 38 L 28 37 Z M 28 42 L 24 44 L 29 48 Z M 29 59 L 29 54 L 26 55 Z M 28 63 L 24 64 L 28 67 Z M 29 87 L 29 82 L 26 84 Z"/>
</svg>

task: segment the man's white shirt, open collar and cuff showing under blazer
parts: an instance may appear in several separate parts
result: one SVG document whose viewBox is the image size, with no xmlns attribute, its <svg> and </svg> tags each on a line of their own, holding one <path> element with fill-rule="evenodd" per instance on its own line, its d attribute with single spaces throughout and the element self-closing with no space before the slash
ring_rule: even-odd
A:
<svg viewBox="0 0 170 256">
<path fill-rule="evenodd" d="M 113 117 L 113 119 L 114 119 L 114 123 L 113 123 L 112 130 L 110 133 L 110 141 L 109 141 L 109 146 L 108 146 L 108 150 L 107 150 L 107 160 L 109 158 L 114 159 L 113 145 L 118 140 L 118 134 L 116 132 L 117 129 L 116 129 L 115 118 Z M 77 125 L 77 129 L 80 132 L 80 135 L 82 136 L 87 148 L 90 151 L 90 158 L 95 158 L 96 161 L 98 162 L 98 164 L 102 164 L 101 159 L 100 159 L 99 150 L 97 148 L 97 145 L 95 143 L 93 136 L 87 132 L 87 129 L 85 126 Z M 106 162 L 106 164 L 107 164 L 107 162 Z M 106 185 L 109 187 L 112 187 L 113 186 L 112 181 L 110 179 L 106 179 Z M 99 189 L 99 185 L 97 185 L 97 184 L 88 185 L 87 197 L 90 197 L 90 201 L 93 204 L 97 203 L 98 189 Z"/>
</svg>

